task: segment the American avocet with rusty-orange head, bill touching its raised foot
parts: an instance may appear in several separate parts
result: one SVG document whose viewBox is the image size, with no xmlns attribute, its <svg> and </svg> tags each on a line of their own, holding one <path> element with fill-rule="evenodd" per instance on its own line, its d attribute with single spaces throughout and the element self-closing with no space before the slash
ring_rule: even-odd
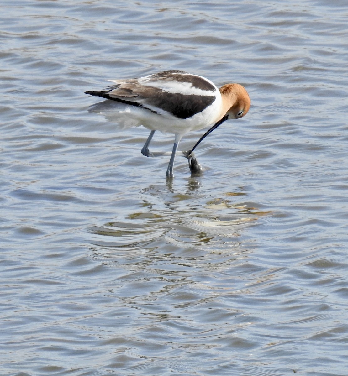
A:
<svg viewBox="0 0 348 376">
<path fill-rule="evenodd" d="M 193 149 L 223 121 L 239 119 L 250 108 L 249 95 L 242 85 L 228 83 L 218 89 L 210 80 L 182 71 L 164 71 L 140 78 L 110 81 L 116 85 L 102 91 L 85 92 L 107 99 L 90 106 L 89 111 L 103 114 L 124 127 L 143 125 L 150 129 L 141 153 L 147 157 L 170 155 L 167 177 L 173 176 L 175 155 L 188 159 L 191 172 L 201 171 Z M 177 152 L 179 141 L 185 133 L 213 123 L 192 150 Z M 149 144 L 156 130 L 174 133 L 172 152 L 150 152 Z"/>
</svg>

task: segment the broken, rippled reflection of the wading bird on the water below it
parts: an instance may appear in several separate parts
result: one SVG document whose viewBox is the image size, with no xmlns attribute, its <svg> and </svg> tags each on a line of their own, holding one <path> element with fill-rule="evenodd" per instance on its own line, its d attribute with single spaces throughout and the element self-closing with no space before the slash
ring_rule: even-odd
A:
<svg viewBox="0 0 348 376">
<path fill-rule="evenodd" d="M 270 214 L 245 200 L 241 190 L 219 191 L 216 196 L 203 187 L 202 177 L 179 180 L 148 185 L 139 190 L 138 204 L 127 213 L 88 229 L 94 255 L 134 261 L 192 249 L 231 252 L 248 238 L 244 232 L 251 223 Z"/>
</svg>

